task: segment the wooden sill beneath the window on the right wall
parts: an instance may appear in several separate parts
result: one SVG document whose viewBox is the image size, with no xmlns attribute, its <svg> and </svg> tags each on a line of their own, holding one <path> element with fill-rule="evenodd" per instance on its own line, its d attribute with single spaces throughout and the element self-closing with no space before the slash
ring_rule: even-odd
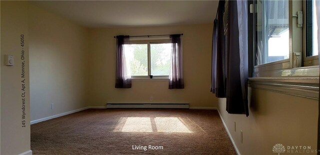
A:
<svg viewBox="0 0 320 155">
<path fill-rule="evenodd" d="M 319 77 L 248 78 L 248 86 L 318 100 Z"/>
</svg>

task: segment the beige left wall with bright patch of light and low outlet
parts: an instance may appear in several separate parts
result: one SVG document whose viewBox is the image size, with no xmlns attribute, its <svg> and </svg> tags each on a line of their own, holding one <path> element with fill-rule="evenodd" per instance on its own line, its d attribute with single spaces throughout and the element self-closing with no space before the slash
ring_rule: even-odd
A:
<svg viewBox="0 0 320 155">
<path fill-rule="evenodd" d="M 85 107 L 88 29 L 32 4 L 28 15 L 31 121 Z"/>
</svg>

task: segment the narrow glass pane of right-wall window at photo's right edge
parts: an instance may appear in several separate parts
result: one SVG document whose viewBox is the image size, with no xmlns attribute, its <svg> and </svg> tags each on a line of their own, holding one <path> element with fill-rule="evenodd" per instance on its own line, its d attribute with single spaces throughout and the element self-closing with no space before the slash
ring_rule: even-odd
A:
<svg viewBox="0 0 320 155">
<path fill-rule="evenodd" d="M 318 40 L 317 40 L 317 15 L 315 0 L 306 0 L 306 56 L 318 55 Z"/>
</svg>

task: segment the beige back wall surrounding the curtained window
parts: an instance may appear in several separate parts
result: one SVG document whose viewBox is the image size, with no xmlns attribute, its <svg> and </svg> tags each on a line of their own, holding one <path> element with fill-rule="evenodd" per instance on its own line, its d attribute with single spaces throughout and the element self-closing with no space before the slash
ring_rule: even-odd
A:
<svg viewBox="0 0 320 155">
<path fill-rule="evenodd" d="M 116 89 L 115 35 L 183 33 L 185 88 L 169 90 L 168 81 L 132 81 L 130 89 Z M 106 103 L 189 103 L 190 107 L 216 107 L 210 93 L 212 24 L 159 27 L 99 28 L 89 31 L 89 106 Z M 153 101 L 150 101 L 150 96 Z"/>
</svg>

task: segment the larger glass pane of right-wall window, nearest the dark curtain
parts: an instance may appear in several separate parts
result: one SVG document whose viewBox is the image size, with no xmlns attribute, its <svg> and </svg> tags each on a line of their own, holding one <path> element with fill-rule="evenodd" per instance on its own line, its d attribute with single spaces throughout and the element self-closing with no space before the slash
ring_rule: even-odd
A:
<svg viewBox="0 0 320 155">
<path fill-rule="evenodd" d="M 257 0 L 255 65 L 289 58 L 288 0 Z"/>
</svg>

